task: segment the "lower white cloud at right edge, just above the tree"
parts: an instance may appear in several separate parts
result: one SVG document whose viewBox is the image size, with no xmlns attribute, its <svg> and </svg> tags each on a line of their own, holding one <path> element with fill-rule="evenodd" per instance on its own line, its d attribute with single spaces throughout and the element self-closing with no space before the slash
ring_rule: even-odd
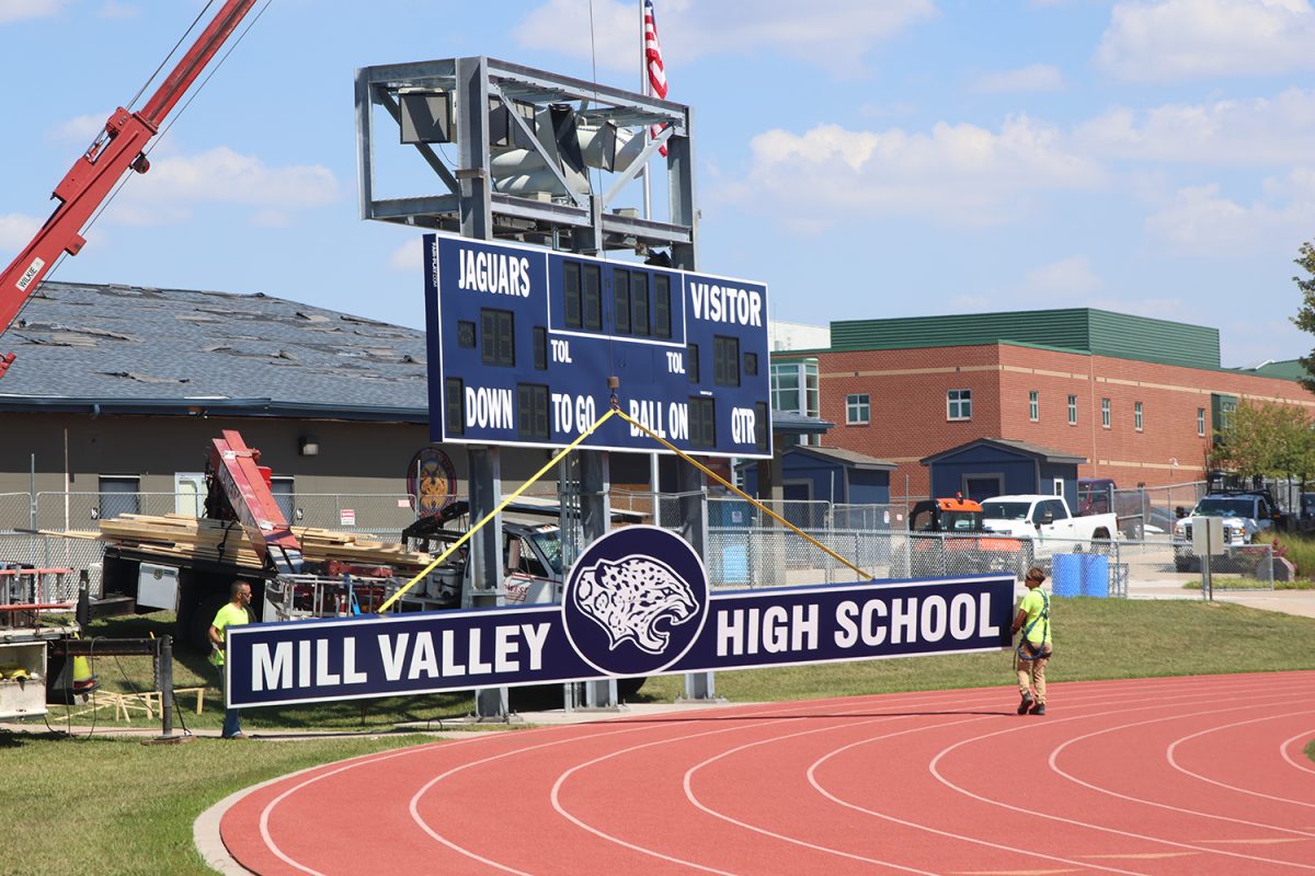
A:
<svg viewBox="0 0 1315 876">
<path fill-rule="evenodd" d="M 1180 189 L 1145 219 L 1147 234 L 1185 256 L 1243 256 L 1293 251 L 1315 226 L 1315 169 L 1266 180 L 1262 197 L 1239 204 L 1218 184 Z"/>
</svg>

